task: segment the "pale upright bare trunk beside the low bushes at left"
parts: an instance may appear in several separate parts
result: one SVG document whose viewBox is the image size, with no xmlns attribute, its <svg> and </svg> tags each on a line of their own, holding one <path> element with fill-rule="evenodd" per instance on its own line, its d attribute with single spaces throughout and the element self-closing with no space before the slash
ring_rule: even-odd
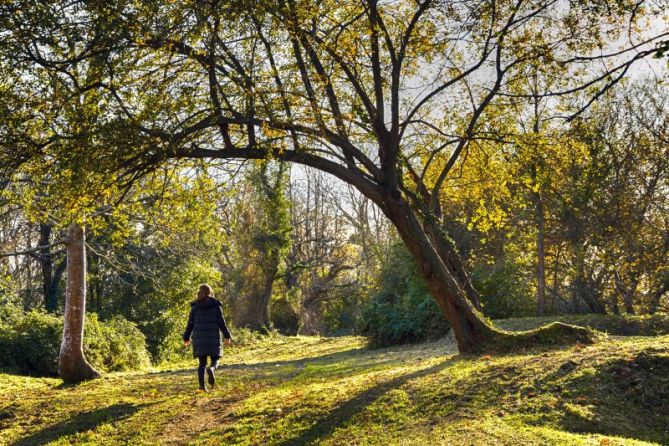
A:
<svg viewBox="0 0 669 446">
<path fill-rule="evenodd" d="M 78 383 L 100 376 L 84 357 L 85 317 L 86 234 L 83 227 L 73 224 L 67 241 L 65 320 L 58 356 L 58 374 L 66 383 Z"/>
</svg>

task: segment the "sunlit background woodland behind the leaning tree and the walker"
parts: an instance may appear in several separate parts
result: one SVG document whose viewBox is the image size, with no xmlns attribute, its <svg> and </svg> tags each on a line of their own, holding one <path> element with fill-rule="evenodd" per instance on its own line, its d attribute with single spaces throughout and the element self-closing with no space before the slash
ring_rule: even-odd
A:
<svg viewBox="0 0 669 446">
<path fill-rule="evenodd" d="M 533 129 L 528 115 L 527 133 L 456 166 L 443 207 L 484 314 L 667 311 L 666 101 L 665 87 L 630 83 L 568 126 Z M 255 331 L 404 342 L 448 329 L 397 235 L 354 189 L 278 161 L 169 176 L 172 192 L 157 175 L 136 197 L 144 211 L 110 215 L 87 242 L 89 311 L 134 322 L 154 360 L 180 355 L 205 281 L 232 323 Z M 60 314 L 63 249 L 21 254 L 58 231 L 9 198 L 2 209 L 0 246 L 16 253 L 0 260 L 4 305 Z"/>
</svg>

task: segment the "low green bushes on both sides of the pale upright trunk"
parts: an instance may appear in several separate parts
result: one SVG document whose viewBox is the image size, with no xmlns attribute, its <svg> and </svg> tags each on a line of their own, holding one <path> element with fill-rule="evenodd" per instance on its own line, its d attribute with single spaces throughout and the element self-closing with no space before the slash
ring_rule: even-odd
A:
<svg viewBox="0 0 669 446">
<path fill-rule="evenodd" d="M 61 317 L 18 308 L 0 313 L 0 367 L 40 376 L 58 374 L 58 353 L 63 331 Z M 84 352 L 103 372 L 138 369 L 149 364 L 144 335 L 131 322 L 115 317 L 99 321 L 88 314 Z"/>
</svg>

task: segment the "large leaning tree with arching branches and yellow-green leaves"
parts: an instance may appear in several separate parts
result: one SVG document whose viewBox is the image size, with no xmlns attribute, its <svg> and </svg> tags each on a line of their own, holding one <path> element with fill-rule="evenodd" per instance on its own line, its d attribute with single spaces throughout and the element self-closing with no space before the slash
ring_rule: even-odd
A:
<svg viewBox="0 0 669 446">
<path fill-rule="evenodd" d="M 88 150 L 118 181 L 170 159 L 275 158 L 332 174 L 395 226 L 460 351 L 537 338 L 480 313 L 443 231 L 449 179 L 481 141 L 506 141 L 500 107 L 541 96 L 573 119 L 669 34 L 645 31 L 658 28 L 652 1 L 23 3 L 2 8 L 26 61 L 62 77 L 101 62 L 81 87 L 114 118 Z M 54 28 L 73 37 L 67 51 Z M 537 65 L 546 82 L 523 90 Z"/>
</svg>

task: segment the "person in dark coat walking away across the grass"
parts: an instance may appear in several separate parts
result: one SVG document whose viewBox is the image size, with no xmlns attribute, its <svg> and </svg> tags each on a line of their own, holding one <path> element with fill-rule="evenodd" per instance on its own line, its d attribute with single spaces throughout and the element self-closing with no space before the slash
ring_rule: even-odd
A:
<svg viewBox="0 0 669 446">
<path fill-rule="evenodd" d="M 214 298 L 211 287 L 202 284 L 198 290 L 197 299 L 191 302 L 188 324 L 183 335 L 184 346 L 188 347 L 192 340 L 193 357 L 199 361 L 197 379 L 201 392 L 207 392 L 204 384 L 205 371 L 210 388 L 216 385 L 214 371 L 221 358 L 221 332 L 225 338 L 225 345 L 231 345 L 232 335 L 223 317 L 222 304 Z M 211 361 L 209 367 L 207 367 L 207 357 Z"/>
</svg>

